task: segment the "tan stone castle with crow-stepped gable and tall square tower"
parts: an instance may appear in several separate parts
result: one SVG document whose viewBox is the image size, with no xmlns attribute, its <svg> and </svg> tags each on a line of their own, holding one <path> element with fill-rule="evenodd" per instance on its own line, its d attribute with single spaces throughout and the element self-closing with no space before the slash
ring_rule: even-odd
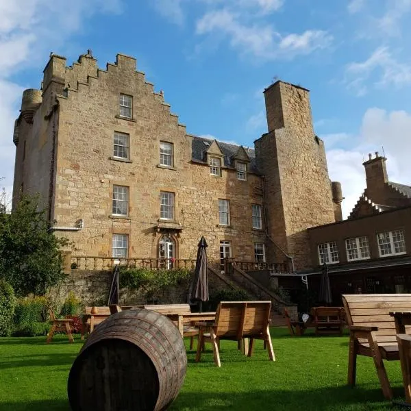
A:
<svg viewBox="0 0 411 411">
<path fill-rule="evenodd" d="M 312 266 L 307 229 L 342 218 L 340 184 L 308 90 L 279 81 L 264 97 L 268 132 L 248 149 L 188 134 L 132 57 L 102 70 L 90 51 L 69 67 L 51 54 L 16 119 L 14 201 L 40 192 L 79 256 L 195 259 L 203 235 L 216 264 Z"/>
</svg>

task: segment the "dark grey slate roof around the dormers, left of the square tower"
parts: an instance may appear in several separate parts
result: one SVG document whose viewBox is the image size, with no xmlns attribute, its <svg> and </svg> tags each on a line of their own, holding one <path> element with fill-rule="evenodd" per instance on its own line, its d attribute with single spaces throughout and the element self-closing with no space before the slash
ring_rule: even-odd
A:
<svg viewBox="0 0 411 411">
<path fill-rule="evenodd" d="M 210 147 L 213 141 L 214 140 L 211 140 L 210 138 L 193 136 L 191 146 L 192 161 L 207 164 L 206 151 L 208 150 L 208 147 Z M 234 169 L 234 161 L 231 159 L 231 157 L 232 155 L 236 154 L 240 146 L 228 144 L 227 142 L 221 142 L 219 140 L 216 140 L 216 142 L 219 145 L 221 151 L 223 151 L 224 166 L 228 167 L 229 169 Z M 247 147 L 244 147 L 244 149 L 250 159 L 251 173 L 261 174 L 260 171 L 258 171 L 258 167 L 256 164 L 256 154 L 254 153 L 254 150 L 249 149 Z"/>
</svg>

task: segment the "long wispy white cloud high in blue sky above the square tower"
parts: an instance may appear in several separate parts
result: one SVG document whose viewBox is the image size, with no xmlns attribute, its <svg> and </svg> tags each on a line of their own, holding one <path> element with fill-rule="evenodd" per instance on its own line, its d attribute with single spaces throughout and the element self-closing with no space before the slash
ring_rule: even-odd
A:
<svg viewBox="0 0 411 411">
<path fill-rule="evenodd" d="M 332 36 L 321 30 L 282 36 L 271 25 L 246 25 L 240 22 L 240 14 L 227 8 L 208 12 L 201 17 L 197 21 L 196 33 L 226 35 L 233 48 L 264 60 L 307 54 L 328 47 L 332 42 Z"/>
</svg>

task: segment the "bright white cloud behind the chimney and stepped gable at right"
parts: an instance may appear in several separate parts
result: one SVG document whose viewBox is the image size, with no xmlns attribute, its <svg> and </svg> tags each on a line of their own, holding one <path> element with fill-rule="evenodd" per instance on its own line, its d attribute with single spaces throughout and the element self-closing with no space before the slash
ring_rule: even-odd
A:
<svg viewBox="0 0 411 411">
<path fill-rule="evenodd" d="M 336 136 L 336 141 L 329 146 L 332 136 Z M 352 149 L 336 147 L 341 136 L 354 142 Z M 411 184 L 411 113 L 369 108 L 362 117 L 358 136 L 334 134 L 331 139 L 330 136 L 321 138 L 324 138 L 327 148 L 329 176 L 333 181 L 339 181 L 343 188 L 344 216 L 349 215 L 366 188 L 362 162 L 368 158 L 368 153 L 379 151 L 382 154 L 384 147 L 390 181 Z"/>
</svg>

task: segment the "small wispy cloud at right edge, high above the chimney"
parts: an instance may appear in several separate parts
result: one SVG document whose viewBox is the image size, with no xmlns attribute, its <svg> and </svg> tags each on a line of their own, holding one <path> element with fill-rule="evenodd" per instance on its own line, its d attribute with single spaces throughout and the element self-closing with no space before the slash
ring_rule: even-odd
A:
<svg viewBox="0 0 411 411">
<path fill-rule="evenodd" d="M 378 88 L 406 86 L 411 84 L 411 66 L 397 61 L 388 47 L 378 47 L 364 62 L 353 62 L 346 68 L 345 82 L 356 95 L 366 94 L 366 82 L 370 79 Z"/>
</svg>

